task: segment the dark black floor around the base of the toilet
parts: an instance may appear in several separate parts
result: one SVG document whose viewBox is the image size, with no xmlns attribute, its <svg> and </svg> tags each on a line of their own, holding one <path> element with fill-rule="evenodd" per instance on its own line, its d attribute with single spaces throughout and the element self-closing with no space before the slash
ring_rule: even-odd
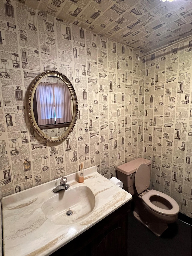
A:
<svg viewBox="0 0 192 256">
<path fill-rule="evenodd" d="M 128 214 L 128 256 L 191 256 L 192 228 L 180 220 L 158 237 Z"/>
</svg>

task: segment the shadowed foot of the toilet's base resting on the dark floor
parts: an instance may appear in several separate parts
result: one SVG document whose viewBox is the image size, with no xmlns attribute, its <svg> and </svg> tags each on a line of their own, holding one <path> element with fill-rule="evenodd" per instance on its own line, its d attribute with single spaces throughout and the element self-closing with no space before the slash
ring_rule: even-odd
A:
<svg viewBox="0 0 192 256">
<path fill-rule="evenodd" d="M 151 219 L 144 221 L 137 212 L 134 211 L 133 213 L 134 217 L 144 226 L 148 227 L 156 236 L 161 236 L 161 234 L 168 228 L 167 223 L 162 223 L 157 220 L 153 221 Z"/>
</svg>

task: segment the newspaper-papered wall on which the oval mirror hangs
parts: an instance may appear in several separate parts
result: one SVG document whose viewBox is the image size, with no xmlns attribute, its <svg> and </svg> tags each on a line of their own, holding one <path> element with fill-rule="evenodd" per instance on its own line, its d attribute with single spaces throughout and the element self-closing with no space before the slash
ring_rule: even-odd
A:
<svg viewBox="0 0 192 256">
<path fill-rule="evenodd" d="M 17 1 L 12 5 L 14 17 L 5 15 L 2 2 L 0 13 L 1 196 L 76 172 L 81 162 L 115 176 L 116 165 L 143 152 L 145 64 L 139 53 Z M 27 116 L 26 92 L 44 70 L 67 76 L 78 99 L 75 128 L 62 143 L 41 140 Z"/>
</svg>

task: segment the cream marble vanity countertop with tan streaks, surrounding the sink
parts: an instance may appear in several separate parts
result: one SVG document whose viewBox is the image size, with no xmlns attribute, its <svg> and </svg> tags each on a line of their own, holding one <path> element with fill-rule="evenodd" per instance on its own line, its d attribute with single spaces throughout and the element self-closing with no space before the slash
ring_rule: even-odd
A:
<svg viewBox="0 0 192 256">
<path fill-rule="evenodd" d="M 97 172 L 96 166 L 84 170 L 84 182 L 78 173 L 67 176 L 70 188 L 87 186 L 95 196 L 93 211 L 72 224 L 56 224 L 43 213 L 42 204 L 54 196 L 52 189 L 60 183 L 53 180 L 1 199 L 3 250 L 5 256 L 50 255 L 83 233 L 110 213 L 131 200 L 132 195 Z"/>
</svg>

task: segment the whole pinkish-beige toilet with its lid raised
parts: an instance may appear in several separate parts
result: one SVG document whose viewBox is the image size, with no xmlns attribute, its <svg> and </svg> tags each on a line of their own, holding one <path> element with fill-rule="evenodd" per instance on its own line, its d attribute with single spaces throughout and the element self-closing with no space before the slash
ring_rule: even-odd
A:
<svg viewBox="0 0 192 256">
<path fill-rule="evenodd" d="M 149 190 L 151 161 L 134 159 L 116 167 L 117 178 L 123 189 L 134 195 L 134 217 L 148 227 L 156 236 L 168 228 L 168 223 L 177 220 L 178 203 L 167 194 Z"/>
</svg>

